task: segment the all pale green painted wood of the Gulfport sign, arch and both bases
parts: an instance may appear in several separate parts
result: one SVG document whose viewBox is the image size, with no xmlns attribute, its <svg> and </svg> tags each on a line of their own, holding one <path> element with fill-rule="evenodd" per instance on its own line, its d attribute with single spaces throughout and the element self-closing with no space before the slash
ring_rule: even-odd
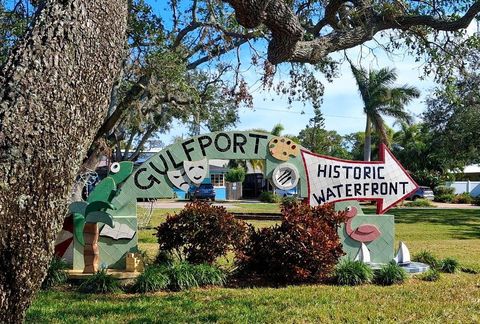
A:
<svg viewBox="0 0 480 324">
<path fill-rule="evenodd" d="M 184 161 L 198 161 L 210 159 L 264 159 L 265 175 L 271 177 L 273 170 L 284 162 L 293 164 L 299 172 L 300 181 L 298 192 L 300 197 L 308 196 L 303 160 L 299 153 L 290 157 L 288 161 L 277 160 L 270 155 L 269 142 L 275 136 L 258 132 L 215 132 L 187 139 L 180 143 L 172 144 L 161 152 L 152 156 L 141 166 L 137 167 L 125 182 L 116 188 L 115 181 L 101 183 L 98 193 L 89 197 L 89 202 L 96 200 L 111 201 L 114 210 L 108 210 L 113 216 L 113 221 L 128 224 L 137 230 L 137 199 L 139 198 L 173 198 L 174 191 L 167 178 L 167 171 L 183 167 Z M 299 146 L 300 147 L 300 146 Z M 301 148 L 301 147 L 300 147 Z M 121 175 L 119 175 L 121 177 Z M 123 179 L 122 179 L 123 180 Z M 113 182 L 113 183 L 112 183 Z M 112 189 L 113 188 L 113 189 Z M 369 223 L 376 225 L 382 236 L 367 244 L 374 262 L 388 262 L 393 258 L 394 223 L 393 216 L 364 215 L 360 204 L 356 201 L 341 202 L 336 208 L 345 209 L 347 206 L 357 207 L 359 213 L 352 222 L 353 226 Z M 349 238 L 343 226 L 339 234 L 344 245 L 347 257 L 354 258 L 358 253 L 360 243 Z M 124 268 L 125 255 L 137 250 L 138 235 L 132 240 L 113 240 L 100 237 L 100 260 L 104 266 L 110 268 Z M 83 246 L 75 242 L 74 268 L 83 268 Z"/>
</svg>

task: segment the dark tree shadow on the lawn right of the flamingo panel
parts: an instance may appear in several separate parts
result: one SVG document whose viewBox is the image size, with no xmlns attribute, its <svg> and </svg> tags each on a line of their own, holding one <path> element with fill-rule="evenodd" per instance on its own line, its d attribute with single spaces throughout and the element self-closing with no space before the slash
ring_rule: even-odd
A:
<svg viewBox="0 0 480 324">
<path fill-rule="evenodd" d="M 375 210 L 366 209 L 366 214 Z M 396 224 L 429 223 L 440 226 L 454 226 L 452 236 L 456 239 L 480 238 L 480 210 L 478 209 L 392 209 Z"/>
</svg>

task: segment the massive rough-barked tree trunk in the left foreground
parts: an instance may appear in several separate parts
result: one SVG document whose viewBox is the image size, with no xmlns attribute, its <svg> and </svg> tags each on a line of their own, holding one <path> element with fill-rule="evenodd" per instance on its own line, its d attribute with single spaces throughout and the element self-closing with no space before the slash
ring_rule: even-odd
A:
<svg viewBox="0 0 480 324">
<path fill-rule="evenodd" d="M 22 322 L 124 52 L 127 3 L 45 1 L 0 70 L 0 322 Z"/>
</svg>

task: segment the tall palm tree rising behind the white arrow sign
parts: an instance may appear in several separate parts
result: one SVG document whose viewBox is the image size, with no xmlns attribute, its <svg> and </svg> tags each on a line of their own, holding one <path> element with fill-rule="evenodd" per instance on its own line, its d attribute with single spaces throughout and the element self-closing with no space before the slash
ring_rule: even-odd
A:
<svg viewBox="0 0 480 324">
<path fill-rule="evenodd" d="M 350 63 L 363 100 L 363 111 L 367 115 L 365 126 L 365 146 L 363 159 L 370 161 L 372 154 L 372 131 L 379 135 L 380 142 L 389 144 L 382 116 L 390 116 L 399 122 L 410 124 L 412 117 L 405 111 L 405 105 L 420 96 L 420 91 L 412 86 L 392 87 L 397 80 L 395 69 L 383 68 L 366 71 Z"/>
</svg>

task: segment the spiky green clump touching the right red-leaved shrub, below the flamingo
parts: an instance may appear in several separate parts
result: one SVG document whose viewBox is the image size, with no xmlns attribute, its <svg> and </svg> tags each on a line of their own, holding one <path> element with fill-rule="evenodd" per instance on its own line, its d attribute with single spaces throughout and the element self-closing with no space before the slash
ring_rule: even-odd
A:
<svg viewBox="0 0 480 324">
<path fill-rule="evenodd" d="M 344 259 L 335 267 L 335 282 L 342 286 L 357 286 L 373 279 L 373 270 L 362 261 Z"/>
</svg>

